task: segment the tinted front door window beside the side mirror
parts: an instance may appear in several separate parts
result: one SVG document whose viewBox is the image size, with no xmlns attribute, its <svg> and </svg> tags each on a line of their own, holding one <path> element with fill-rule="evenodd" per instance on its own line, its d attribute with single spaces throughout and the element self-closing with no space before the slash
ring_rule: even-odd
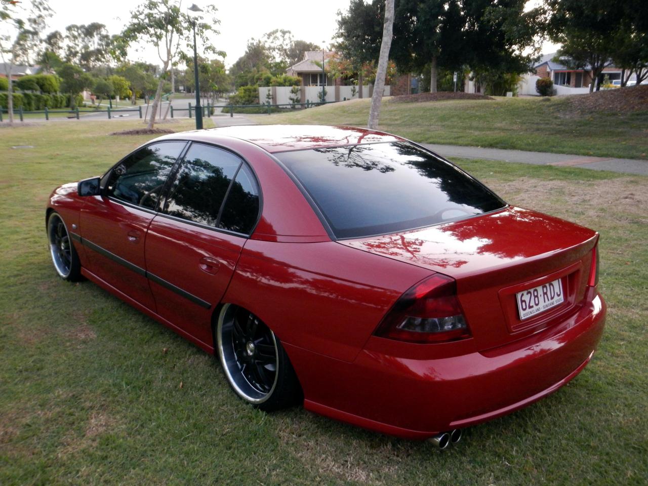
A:
<svg viewBox="0 0 648 486">
<path fill-rule="evenodd" d="M 156 209 L 163 185 L 185 145 L 184 142 L 156 143 L 133 152 L 111 170 L 106 193 Z"/>
</svg>

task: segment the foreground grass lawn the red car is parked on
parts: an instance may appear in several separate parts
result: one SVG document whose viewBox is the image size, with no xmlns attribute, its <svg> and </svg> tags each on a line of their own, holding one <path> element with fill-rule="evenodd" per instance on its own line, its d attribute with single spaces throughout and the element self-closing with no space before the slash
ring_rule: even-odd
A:
<svg viewBox="0 0 648 486">
<path fill-rule="evenodd" d="M 0 128 L 1 485 L 645 484 L 648 178 L 457 161 L 511 203 L 599 230 L 609 311 L 598 353 L 569 386 L 437 452 L 302 408 L 253 410 L 216 358 L 94 284 L 56 277 L 49 193 L 146 141 L 107 135 L 135 126 Z"/>
</svg>

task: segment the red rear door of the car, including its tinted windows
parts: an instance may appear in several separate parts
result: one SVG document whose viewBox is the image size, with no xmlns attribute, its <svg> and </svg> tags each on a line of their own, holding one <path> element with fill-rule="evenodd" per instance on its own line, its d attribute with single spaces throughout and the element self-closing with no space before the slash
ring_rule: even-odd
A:
<svg viewBox="0 0 648 486">
<path fill-rule="evenodd" d="M 259 186 L 241 157 L 192 143 L 146 235 L 157 313 L 212 345 L 211 316 L 259 216 Z"/>
</svg>

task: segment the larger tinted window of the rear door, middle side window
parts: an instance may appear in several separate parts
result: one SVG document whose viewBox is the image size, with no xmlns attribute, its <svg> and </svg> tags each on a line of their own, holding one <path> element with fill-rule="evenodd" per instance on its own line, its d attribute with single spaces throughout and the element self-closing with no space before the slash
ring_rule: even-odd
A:
<svg viewBox="0 0 648 486">
<path fill-rule="evenodd" d="M 172 184 L 164 213 L 216 226 L 218 213 L 241 159 L 207 145 L 189 148 Z"/>
</svg>

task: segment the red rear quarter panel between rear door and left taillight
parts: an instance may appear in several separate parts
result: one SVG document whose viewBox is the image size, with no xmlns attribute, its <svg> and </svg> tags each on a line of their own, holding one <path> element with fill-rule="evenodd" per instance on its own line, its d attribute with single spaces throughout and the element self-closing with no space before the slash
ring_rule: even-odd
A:
<svg viewBox="0 0 648 486">
<path fill-rule="evenodd" d="M 286 343 L 351 362 L 396 299 L 431 273 L 336 242 L 249 240 L 224 301 Z"/>
</svg>

